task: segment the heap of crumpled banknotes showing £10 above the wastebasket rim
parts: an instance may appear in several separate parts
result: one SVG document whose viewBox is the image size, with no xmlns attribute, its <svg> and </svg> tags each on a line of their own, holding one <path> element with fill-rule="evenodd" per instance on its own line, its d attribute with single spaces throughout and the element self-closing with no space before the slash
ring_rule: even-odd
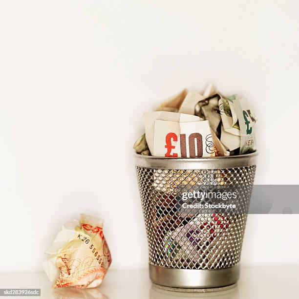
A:
<svg viewBox="0 0 299 299">
<path fill-rule="evenodd" d="M 256 116 L 247 99 L 225 97 L 212 84 L 203 94 L 184 89 L 144 113 L 145 134 L 133 148 L 157 157 L 217 157 L 256 150 Z"/>
</svg>

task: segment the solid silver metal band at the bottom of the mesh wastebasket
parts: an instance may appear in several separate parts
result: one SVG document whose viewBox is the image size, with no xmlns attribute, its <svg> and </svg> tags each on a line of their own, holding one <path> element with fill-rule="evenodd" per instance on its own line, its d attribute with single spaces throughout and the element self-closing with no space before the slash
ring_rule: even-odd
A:
<svg viewBox="0 0 299 299">
<path fill-rule="evenodd" d="M 225 269 L 174 269 L 149 264 L 149 278 L 154 284 L 179 289 L 210 289 L 235 284 L 239 265 Z"/>
</svg>

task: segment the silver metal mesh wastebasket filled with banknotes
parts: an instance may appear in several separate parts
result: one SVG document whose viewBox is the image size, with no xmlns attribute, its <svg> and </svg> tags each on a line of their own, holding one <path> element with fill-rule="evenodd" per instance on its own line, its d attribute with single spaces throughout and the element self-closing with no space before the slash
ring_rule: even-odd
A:
<svg viewBox="0 0 299 299">
<path fill-rule="evenodd" d="M 135 154 L 152 282 L 176 288 L 234 284 L 256 171 L 256 155 L 160 158 Z M 183 191 L 242 185 L 237 212 L 182 211 Z"/>
</svg>

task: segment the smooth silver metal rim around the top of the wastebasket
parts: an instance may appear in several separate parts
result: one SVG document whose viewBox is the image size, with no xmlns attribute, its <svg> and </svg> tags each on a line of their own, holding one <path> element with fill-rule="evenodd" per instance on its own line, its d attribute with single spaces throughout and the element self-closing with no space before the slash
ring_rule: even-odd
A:
<svg viewBox="0 0 299 299">
<path fill-rule="evenodd" d="M 166 158 L 134 153 L 135 165 L 157 169 L 226 169 L 256 165 L 258 151 L 238 156 Z"/>
</svg>

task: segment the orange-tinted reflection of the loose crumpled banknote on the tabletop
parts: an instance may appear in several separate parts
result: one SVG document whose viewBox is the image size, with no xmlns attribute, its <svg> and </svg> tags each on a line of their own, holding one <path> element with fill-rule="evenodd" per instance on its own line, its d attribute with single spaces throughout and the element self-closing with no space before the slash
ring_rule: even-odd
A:
<svg viewBox="0 0 299 299">
<path fill-rule="evenodd" d="M 74 287 L 58 288 L 52 290 L 53 299 L 109 299 L 100 288 L 78 289 Z"/>
</svg>

